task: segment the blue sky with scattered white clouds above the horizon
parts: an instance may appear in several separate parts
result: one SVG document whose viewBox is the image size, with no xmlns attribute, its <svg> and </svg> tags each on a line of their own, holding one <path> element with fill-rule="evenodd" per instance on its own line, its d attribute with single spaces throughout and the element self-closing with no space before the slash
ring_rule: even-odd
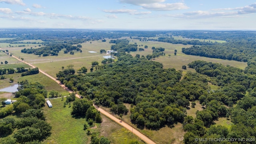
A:
<svg viewBox="0 0 256 144">
<path fill-rule="evenodd" d="M 256 1 L 0 0 L 0 28 L 256 30 Z"/>
</svg>

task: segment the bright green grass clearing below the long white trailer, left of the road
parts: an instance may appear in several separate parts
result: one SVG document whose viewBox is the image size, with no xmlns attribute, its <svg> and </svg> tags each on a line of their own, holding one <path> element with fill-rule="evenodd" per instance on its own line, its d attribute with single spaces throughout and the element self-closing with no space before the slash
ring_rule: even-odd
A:
<svg viewBox="0 0 256 144">
<path fill-rule="evenodd" d="M 89 136 L 84 131 L 85 118 L 72 118 L 72 107 L 63 107 L 66 98 L 50 100 L 52 108 L 47 104 L 43 108 L 46 121 L 52 126 L 52 135 L 42 144 L 86 144 Z"/>
</svg>

